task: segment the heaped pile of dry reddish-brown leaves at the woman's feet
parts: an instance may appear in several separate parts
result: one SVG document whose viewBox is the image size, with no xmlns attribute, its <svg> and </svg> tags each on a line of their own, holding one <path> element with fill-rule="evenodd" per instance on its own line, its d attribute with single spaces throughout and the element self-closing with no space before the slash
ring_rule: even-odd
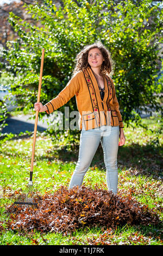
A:
<svg viewBox="0 0 163 256">
<path fill-rule="evenodd" d="M 39 209 L 23 209 L 11 214 L 7 227 L 17 230 L 71 233 L 81 227 L 115 228 L 123 224 L 158 224 L 160 218 L 146 205 L 130 197 L 99 187 L 62 186 L 42 196 Z"/>
</svg>

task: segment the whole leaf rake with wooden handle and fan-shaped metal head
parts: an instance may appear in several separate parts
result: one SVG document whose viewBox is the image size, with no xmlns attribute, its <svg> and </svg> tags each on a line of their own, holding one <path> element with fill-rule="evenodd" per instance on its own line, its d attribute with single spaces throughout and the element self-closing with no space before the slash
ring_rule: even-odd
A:
<svg viewBox="0 0 163 256">
<path fill-rule="evenodd" d="M 44 48 L 42 48 L 40 80 L 39 80 L 39 90 L 38 90 L 38 94 L 37 94 L 37 102 L 40 102 L 44 53 L 45 53 L 45 50 L 44 50 Z M 24 207 L 25 208 L 27 208 L 27 207 L 38 208 L 38 205 L 41 201 L 40 195 L 34 190 L 33 181 L 32 181 L 38 116 L 39 116 L 39 111 L 36 111 L 35 126 L 34 126 L 34 138 L 33 138 L 33 147 L 32 147 L 32 160 L 31 160 L 31 164 L 30 164 L 30 177 L 29 177 L 29 183 L 27 185 L 27 190 L 25 191 L 25 193 L 18 196 L 16 201 L 9 207 L 7 212 L 14 212 L 14 211 L 16 211 L 18 209 L 22 209 Z"/>
</svg>

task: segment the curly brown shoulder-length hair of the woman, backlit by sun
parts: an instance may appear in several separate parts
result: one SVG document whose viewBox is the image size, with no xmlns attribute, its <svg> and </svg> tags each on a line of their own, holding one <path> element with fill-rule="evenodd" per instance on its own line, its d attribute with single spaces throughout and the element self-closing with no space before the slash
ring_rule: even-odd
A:
<svg viewBox="0 0 163 256">
<path fill-rule="evenodd" d="M 113 68 L 115 66 L 115 62 L 112 60 L 110 52 L 102 44 L 102 42 L 97 41 L 94 44 L 86 45 L 83 48 L 83 50 L 81 50 L 77 54 L 76 66 L 73 70 L 72 76 L 74 76 L 78 71 L 83 70 L 83 69 L 87 68 L 88 66 L 90 67 L 90 64 L 88 63 L 87 59 L 88 59 L 89 51 L 93 48 L 98 48 L 104 57 L 104 61 L 101 66 L 101 71 L 103 72 L 103 74 L 112 75 L 114 73 Z"/>
</svg>

